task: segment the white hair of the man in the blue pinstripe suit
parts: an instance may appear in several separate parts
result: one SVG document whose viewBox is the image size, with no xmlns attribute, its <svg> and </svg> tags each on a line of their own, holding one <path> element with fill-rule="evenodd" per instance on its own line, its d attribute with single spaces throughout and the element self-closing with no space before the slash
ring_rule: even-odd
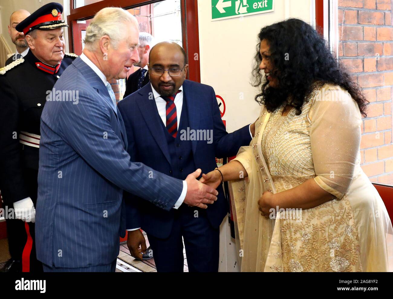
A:
<svg viewBox="0 0 393 299">
<path fill-rule="evenodd" d="M 105 7 L 95 14 L 92 22 L 86 28 L 84 44 L 88 50 L 95 50 L 97 41 L 104 35 L 110 37 L 110 43 L 116 49 L 118 43 L 125 36 L 124 26 L 129 23 L 135 24 L 138 28 L 138 21 L 128 11 L 119 7 Z"/>
</svg>

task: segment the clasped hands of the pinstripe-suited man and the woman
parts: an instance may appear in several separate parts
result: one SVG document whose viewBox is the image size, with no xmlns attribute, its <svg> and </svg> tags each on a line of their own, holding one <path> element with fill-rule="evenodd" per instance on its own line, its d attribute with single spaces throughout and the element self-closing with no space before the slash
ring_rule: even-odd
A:
<svg viewBox="0 0 393 299">
<path fill-rule="evenodd" d="M 218 191 L 216 188 L 222 183 L 222 177 L 219 171 L 211 171 L 208 174 L 202 174 L 202 178 L 198 181 L 196 178 L 200 176 L 201 172 L 201 169 L 197 169 L 185 179 L 187 193 L 184 204 L 206 209 L 207 204 L 213 204 L 217 200 Z"/>
</svg>

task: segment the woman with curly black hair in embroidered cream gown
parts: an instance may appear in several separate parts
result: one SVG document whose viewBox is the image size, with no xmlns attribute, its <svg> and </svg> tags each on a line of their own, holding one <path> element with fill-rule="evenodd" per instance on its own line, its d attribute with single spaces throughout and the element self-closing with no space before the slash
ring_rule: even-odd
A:
<svg viewBox="0 0 393 299">
<path fill-rule="evenodd" d="M 391 221 L 360 168 L 367 101 L 305 22 L 259 40 L 255 137 L 201 179 L 231 181 L 241 270 L 389 271 Z"/>
</svg>

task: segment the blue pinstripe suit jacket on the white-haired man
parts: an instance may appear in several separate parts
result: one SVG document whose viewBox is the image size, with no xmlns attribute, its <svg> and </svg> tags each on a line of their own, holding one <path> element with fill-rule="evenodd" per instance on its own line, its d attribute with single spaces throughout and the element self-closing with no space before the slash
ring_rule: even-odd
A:
<svg viewBox="0 0 393 299">
<path fill-rule="evenodd" d="M 80 58 L 54 88 L 78 92 L 79 101 L 48 101 L 42 112 L 37 258 L 66 268 L 109 264 L 125 234 L 123 190 L 169 211 L 183 182 L 157 171 L 151 177 L 151 168 L 130 161 L 121 114 Z"/>
</svg>

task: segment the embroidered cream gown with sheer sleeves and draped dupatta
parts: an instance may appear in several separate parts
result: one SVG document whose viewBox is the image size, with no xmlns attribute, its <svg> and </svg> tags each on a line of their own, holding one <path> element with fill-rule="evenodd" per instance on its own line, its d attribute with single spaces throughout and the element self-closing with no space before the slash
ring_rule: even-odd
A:
<svg viewBox="0 0 393 299">
<path fill-rule="evenodd" d="M 237 158 L 248 177 L 231 181 L 241 271 L 388 271 L 392 226 L 360 168 L 359 108 L 338 86 L 317 82 L 302 106 L 281 116 L 262 109 L 250 146 Z M 264 191 L 313 178 L 332 200 L 312 209 L 260 215 Z M 391 262 L 391 260 L 390 260 Z"/>
</svg>

